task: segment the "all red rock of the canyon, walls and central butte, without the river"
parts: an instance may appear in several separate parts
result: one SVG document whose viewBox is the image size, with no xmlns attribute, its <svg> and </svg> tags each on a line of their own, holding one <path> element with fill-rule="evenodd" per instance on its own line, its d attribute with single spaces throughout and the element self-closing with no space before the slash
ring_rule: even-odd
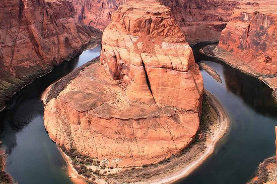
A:
<svg viewBox="0 0 277 184">
<path fill-rule="evenodd" d="M 205 146 L 214 150 L 229 121 L 217 100 L 211 104 L 190 45 L 220 41 L 203 53 L 258 78 L 277 97 L 276 10 L 274 1 L 4 0 L 0 19 L 9 21 L 0 23 L 0 110 L 34 78 L 102 37 L 100 57 L 45 92 L 49 137 L 73 172 L 97 183 L 149 178 L 159 183 L 162 176 L 163 182 L 183 177 L 184 167 L 207 153 Z M 244 84 L 236 76 L 226 81 L 205 63 L 199 66 L 230 91 Z M 210 101 L 203 100 L 205 95 Z M 212 122 L 216 133 L 202 129 L 202 117 Z M 223 121 L 226 127 L 221 129 Z M 205 134 L 210 137 L 204 145 L 199 140 L 206 139 Z M 275 183 L 274 163 L 275 157 L 260 163 L 258 179 L 269 172 L 267 183 Z M 11 182 L 3 165 L 1 173 Z"/>
</svg>

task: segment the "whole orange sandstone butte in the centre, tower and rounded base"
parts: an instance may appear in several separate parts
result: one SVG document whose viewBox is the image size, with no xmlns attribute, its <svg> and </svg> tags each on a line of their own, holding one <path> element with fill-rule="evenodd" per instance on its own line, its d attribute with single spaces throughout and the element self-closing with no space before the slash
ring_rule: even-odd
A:
<svg viewBox="0 0 277 184">
<path fill-rule="evenodd" d="M 44 125 L 59 146 L 108 166 L 157 163 L 193 140 L 202 76 L 170 8 L 133 0 L 111 19 L 102 65 L 89 65 L 46 101 Z"/>
</svg>

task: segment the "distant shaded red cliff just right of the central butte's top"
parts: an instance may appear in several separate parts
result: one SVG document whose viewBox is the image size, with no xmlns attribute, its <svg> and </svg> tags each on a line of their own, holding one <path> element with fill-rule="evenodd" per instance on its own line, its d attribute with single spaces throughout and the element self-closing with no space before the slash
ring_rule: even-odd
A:
<svg viewBox="0 0 277 184">
<path fill-rule="evenodd" d="M 217 42 L 231 18 L 238 1 L 226 0 L 160 0 L 172 9 L 180 29 L 189 44 Z"/>
</svg>

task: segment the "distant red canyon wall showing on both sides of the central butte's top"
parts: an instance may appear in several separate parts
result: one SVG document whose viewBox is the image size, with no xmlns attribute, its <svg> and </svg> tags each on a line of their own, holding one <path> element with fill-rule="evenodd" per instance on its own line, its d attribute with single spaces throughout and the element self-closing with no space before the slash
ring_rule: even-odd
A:
<svg viewBox="0 0 277 184">
<path fill-rule="evenodd" d="M 87 26 L 104 30 L 113 11 L 128 0 L 70 0 L 79 20 Z M 216 42 L 231 18 L 233 9 L 242 1 L 228 0 L 159 0 L 172 9 L 172 15 L 189 44 Z"/>
</svg>

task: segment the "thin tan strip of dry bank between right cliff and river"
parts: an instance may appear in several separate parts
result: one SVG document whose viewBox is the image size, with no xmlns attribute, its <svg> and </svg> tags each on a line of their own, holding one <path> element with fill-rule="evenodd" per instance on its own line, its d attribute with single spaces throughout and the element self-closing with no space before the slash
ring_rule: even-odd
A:
<svg viewBox="0 0 277 184">
<path fill-rule="evenodd" d="M 232 63 L 232 61 L 238 61 L 237 63 L 240 63 L 240 59 L 236 58 L 231 52 L 217 47 L 217 45 L 207 45 L 200 49 L 200 52 L 206 56 L 216 58 L 245 74 L 259 79 L 272 89 L 272 95 L 277 100 L 277 76 L 257 74 L 253 71 L 248 70 L 244 65 L 235 65 L 234 63 Z"/>
</svg>

